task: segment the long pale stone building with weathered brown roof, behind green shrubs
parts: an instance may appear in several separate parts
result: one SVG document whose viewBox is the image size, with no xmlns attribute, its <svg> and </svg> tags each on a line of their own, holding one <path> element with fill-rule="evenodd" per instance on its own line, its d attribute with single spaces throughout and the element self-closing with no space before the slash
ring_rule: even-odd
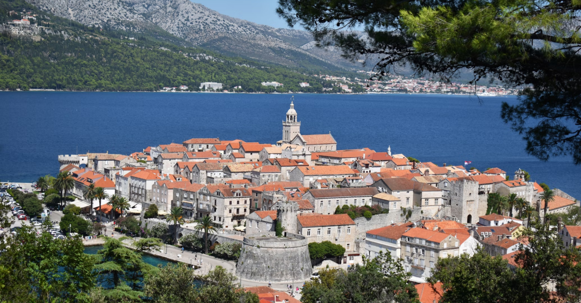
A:
<svg viewBox="0 0 581 303">
<path fill-rule="evenodd" d="M 307 199 L 313 204 L 316 213 L 330 215 L 335 214 L 335 209 L 338 206 L 371 206 L 371 197 L 378 193 L 375 187 L 311 189 L 303 194 L 303 199 Z"/>
</svg>

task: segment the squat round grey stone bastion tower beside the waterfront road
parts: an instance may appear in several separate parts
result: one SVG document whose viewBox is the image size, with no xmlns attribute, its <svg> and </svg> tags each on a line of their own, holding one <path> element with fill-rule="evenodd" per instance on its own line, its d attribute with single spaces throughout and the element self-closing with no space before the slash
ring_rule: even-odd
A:
<svg viewBox="0 0 581 303">
<path fill-rule="evenodd" d="M 307 239 L 294 233 L 286 233 L 286 237 L 295 240 L 277 238 L 275 232 L 246 235 L 236 275 L 263 282 L 308 279 L 313 270 Z"/>
</svg>

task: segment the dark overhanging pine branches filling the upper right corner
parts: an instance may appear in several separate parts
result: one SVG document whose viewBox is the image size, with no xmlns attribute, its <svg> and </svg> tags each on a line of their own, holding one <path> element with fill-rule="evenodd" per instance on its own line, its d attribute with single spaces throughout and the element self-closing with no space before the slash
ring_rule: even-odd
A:
<svg viewBox="0 0 581 303">
<path fill-rule="evenodd" d="M 576 62 L 579 28 L 573 2 L 279 0 L 277 13 L 300 24 L 321 46 L 351 60 L 375 57 L 372 78 L 399 66 L 449 81 L 462 70 L 522 89 L 501 117 L 541 160 L 570 155 L 581 163 Z M 364 35 L 353 28 L 363 28 Z"/>
</svg>

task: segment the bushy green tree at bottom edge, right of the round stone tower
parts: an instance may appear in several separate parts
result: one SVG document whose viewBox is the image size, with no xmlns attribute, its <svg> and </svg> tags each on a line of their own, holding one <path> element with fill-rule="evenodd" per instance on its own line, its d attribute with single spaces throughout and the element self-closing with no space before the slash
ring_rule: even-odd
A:
<svg viewBox="0 0 581 303">
<path fill-rule="evenodd" d="M 302 302 L 419 302 L 415 287 L 407 282 L 410 273 L 389 253 L 379 253 L 373 259 L 364 258 L 363 265 L 351 266 L 346 271 L 319 270 L 319 276 L 305 283 Z"/>
</svg>

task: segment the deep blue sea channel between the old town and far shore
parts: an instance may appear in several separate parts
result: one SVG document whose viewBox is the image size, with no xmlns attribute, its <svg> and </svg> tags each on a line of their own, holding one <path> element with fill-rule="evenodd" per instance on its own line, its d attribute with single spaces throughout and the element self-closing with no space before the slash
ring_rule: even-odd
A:
<svg viewBox="0 0 581 303">
<path fill-rule="evenodd" d="M 0 92 L 0 181 L 33 182 L 59 169 L 59 154 L 130 154 L 191 138 L 275 143 L 291 95 L 151 92 Z M 369 147 L 438 165 L 508 175 L 522 168 L 581 198 L 581 167 L 569 157 L 528 156 L 500 119 L 515 96 L 295 94 L 301 133 L 331 132 L 338 149 Z"/>
</svg>

